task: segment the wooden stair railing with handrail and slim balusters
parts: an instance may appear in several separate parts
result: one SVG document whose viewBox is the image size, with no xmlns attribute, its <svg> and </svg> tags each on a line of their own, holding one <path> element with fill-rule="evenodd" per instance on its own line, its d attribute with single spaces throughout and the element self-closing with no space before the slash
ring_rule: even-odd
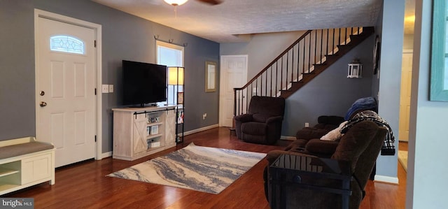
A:
<svg viewBox="0 0 448 209">
<path fill-rule="evenodd" d="M 246 85 L 234 88 L 234 116 L 247 113 L 252 96 L 280 96 L 304 74 L 313 73 L 315 64 L 325 64 L 326 56 L 335 55 L 338 45 L 350 42 L 350 35 L 362 31 L 362 27 L 305 31 Z"/>
</svg>

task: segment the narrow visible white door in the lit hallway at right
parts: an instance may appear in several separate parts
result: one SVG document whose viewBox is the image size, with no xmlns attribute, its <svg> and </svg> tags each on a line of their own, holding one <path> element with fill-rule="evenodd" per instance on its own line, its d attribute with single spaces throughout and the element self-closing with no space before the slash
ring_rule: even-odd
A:
<svg viewBox="0 0 448 209">
<path fill-rule="evenodd" d="M 412 51 L 403 52 L 400 90 L 399 140 L 409 140 L 409 111 L 411 107 Z"/>
</svg>

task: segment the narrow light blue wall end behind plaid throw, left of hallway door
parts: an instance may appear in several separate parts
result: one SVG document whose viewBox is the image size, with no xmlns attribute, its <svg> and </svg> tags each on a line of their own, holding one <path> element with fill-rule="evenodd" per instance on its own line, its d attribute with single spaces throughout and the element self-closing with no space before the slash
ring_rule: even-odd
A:
<svg viewBox="0 0 448 209">
<path fill-rule="evenodd" d="M 403 20 L 405 0 L 383 1 L 381 23 L 381 57 L 379 64 L 378 114 L 391 126 L 398 148 L 398 122 L 400 113 L 401 59 L 403 47 Z M 379 155 L 377 175 L 380 180 L 392 181 L 397 178 L 397 154 Z M 390 178 L 390 179 L 389 179 Z M 377 177 L 375 177 L 377 180 Z"/>
</svg>

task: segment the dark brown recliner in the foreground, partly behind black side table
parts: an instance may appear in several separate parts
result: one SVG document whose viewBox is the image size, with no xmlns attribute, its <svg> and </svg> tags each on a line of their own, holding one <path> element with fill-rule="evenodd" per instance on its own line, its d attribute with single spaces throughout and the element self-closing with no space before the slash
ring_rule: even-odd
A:
<svg viewBox="0 0 448 209">
<path fill-rule="evenodd" d="M 370 173 L 374 168 L 375 161 L 379 155 L 384 138 L 388 129 L 379 127 L 372 121 L 363 121 L 354 124 L 337 143 L 335 152 L 331 159 L 349 161 L 353 180 L 351 180 L 352 194 L 349 199 L 349 208 L 359 208 L 360 202 L 365 194 L 364 188 Z M 296 154 L 310 156 L 296 150 L 274 150 L 267 153 L 267 160 L 272 164 L 281 154 Z M 313 154 L 314 155 L 314 154 Z M 269 173 L 265 168 L 265 192 L 269 196 Z M 322 182 L 323 184 L 325 182 Z M 300 187 L 286 187 L 288 202 L 286 208 L 341 208 L 341 196 Z"/>
</svg>

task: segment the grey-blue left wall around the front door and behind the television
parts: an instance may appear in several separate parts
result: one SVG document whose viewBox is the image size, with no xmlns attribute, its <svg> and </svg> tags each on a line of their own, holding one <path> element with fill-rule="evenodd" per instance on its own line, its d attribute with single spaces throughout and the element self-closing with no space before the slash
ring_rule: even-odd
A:
<svg viewBox="0 0 448 209">
<path fill-rule="evenodd" d="M 188 43 L 186 131 L 218 124 L 218 92 L 205 93 L 204 68 L 219 62 L 219 43 L 88 0 L 0 0 L 0 140 L 36 135 L 34 8 L 102 25 L 102 83 L 115 85 L 114 93 L 102 94 L 102 152 L 112 150 L 111 108 L 122 105 L 121 61 L 155 63 L 155 35 Z"/>
</svg>

